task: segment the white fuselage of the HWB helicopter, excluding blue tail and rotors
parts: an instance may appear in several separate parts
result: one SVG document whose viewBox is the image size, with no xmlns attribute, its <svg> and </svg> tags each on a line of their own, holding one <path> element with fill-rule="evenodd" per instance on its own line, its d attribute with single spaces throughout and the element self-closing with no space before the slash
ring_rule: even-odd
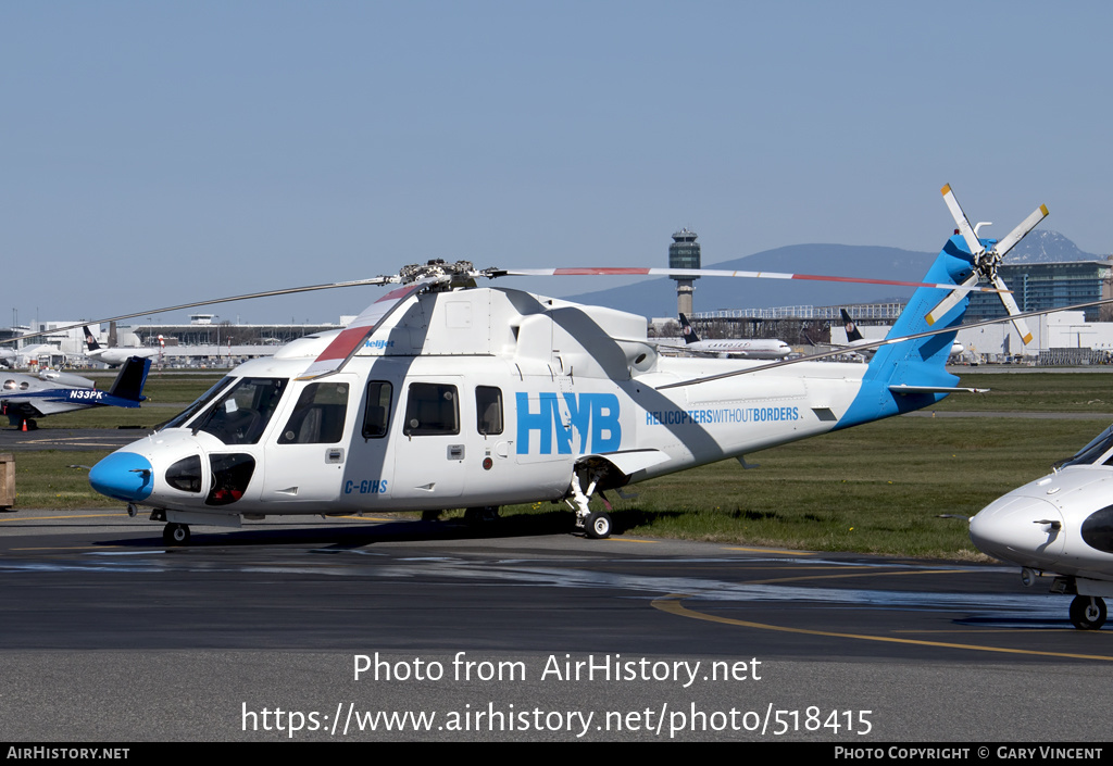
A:
<svg viewBox="0 0 1113 766">
<path fill-rule="evenodd" d="M 334 333 L 240 365 L 191 416 L 108 459 L 138 461 L 124 471 L 141 492 L 106 493 L 233 526 L 559 500 L 578 469 L 607 489 L 829 431 L 866 371 L 817 362 L 658 391 L 755 363 L 659 356 L 642 317 L 518 291 L 412 301 L 339 373 L 297 380 Z"/>
</svg>

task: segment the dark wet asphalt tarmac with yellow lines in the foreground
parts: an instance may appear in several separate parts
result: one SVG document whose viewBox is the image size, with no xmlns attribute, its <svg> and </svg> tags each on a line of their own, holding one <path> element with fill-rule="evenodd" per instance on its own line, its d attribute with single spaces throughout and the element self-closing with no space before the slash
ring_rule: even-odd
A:
<svg viewBox="0 0 1113 766">
<path fill-rule="evenodd" d="M 1109 736 L 1113 631 L 1013 568 L 555 523 L 2 514 L 4 738 Z"/>
</svg>

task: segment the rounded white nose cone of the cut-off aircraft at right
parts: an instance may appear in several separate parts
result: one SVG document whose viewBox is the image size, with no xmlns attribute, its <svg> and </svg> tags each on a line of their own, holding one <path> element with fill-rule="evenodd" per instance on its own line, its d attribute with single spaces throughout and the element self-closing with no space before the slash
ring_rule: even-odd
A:
<svg viewBox="0 0 1113 766">
<path fill-rule="evenodd" d="M 1065 539 L 1063 515 L 1040 498 L 1006 494 L 971 519 L 971 540 L 978 550 L 1022 567 L 1051 567 Z"/>
</svg>

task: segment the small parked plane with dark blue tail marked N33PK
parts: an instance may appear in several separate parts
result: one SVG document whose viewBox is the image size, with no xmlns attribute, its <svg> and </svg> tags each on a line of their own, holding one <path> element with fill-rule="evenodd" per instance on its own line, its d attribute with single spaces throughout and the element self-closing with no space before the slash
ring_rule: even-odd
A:
<svg viewBox="0 0 1113 766">
<path fill-rule="evenodd" d="M 146 400 L 142 387 L 149 371 L 150 360 L 132 357 L 108 391 L 98 390 L 88 377 L 53 370 L 43 370 L 38 377 L 0 373 L 0 414 L 8 416 L 9 424 L 33 431 L 36 418 L 97 406 L 137 407 Z"/>
</svg>

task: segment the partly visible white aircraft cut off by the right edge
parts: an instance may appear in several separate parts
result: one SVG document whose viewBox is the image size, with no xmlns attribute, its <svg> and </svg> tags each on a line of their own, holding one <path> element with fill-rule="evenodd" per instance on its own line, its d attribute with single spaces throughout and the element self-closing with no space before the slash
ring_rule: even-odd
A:
<svg viewBox="0 0 1113 766">
<path fill-rule="evenodd" d="M 1101 628 L 1113 597 L 1113 425 L 1048 475 L 986 505 L 969 530 L 982 552 L 1021 567 L 1025 586 L 1053 574 L 1051 591 L 1074 596 L 1074 627 Z"/>
</svg>

